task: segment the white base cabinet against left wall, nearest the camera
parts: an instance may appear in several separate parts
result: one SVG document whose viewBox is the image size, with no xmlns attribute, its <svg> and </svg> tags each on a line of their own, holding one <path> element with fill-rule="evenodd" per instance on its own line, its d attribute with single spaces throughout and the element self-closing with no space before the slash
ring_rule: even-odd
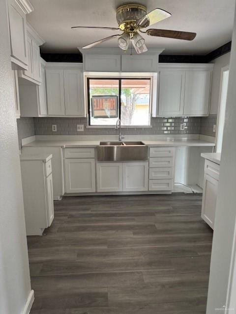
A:
<svg viewBox="0 0 236 314">
<path fill-rule="evenodd" d="M 54 219 L 51 159 L 52 155 L 21 155 L 27 235 L 42 235 Z"/>
</svg>

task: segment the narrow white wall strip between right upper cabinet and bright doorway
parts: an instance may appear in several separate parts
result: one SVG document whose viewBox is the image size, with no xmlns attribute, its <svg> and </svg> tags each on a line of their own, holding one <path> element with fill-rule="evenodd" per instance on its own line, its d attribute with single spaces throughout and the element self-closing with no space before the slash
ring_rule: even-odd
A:
<svg viewBox="0 0 236 314">
<path fill-rule="evenodd" d="M 230 52 L 212 60 L 210 63 L 214 63 L 210 96 L 210 114 L 217 114 L 219 105 L 221 68 L 230 63 Z"/>
</svg>

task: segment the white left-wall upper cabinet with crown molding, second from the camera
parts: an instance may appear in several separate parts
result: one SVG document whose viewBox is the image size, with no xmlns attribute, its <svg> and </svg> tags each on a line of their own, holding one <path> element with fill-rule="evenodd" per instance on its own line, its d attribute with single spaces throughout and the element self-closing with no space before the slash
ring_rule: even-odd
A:
<svg viewBox="0 0 236 314">
<path fill-rule="evenodd" d="M 28 70 L 19 71 L 20 78 L 29 80 L 35 84 L 42 81 L 40 51 L 39 46 L 44 43 L 32 26 L 27 23 L 27 51 L 28 51 Z"/>
</svg>

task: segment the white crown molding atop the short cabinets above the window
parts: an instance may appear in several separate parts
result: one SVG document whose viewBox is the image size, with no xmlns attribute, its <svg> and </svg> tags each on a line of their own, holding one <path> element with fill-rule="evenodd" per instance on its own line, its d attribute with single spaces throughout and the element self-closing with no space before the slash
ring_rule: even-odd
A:
<svg viewBox="0 0 236 314">
<path fill-rule="evenodd" d="M 89 49 L 83 49 L 80 47 L 77 47 L 78 50 L 83 54 L 120 54 L 120 55 L 128 55 L 131 53 L 131 49 L 129 48 L 126 52 L 123 51 L 120 48 L 89 48 Z M 149 48 L 147 52 L 143 52 L 142 55 L 159 55 L 161 52 L 163 52 L 164 48 Z M 134 49 L 132 49 L 133 55 L 138 55 Z"/>
</svg>

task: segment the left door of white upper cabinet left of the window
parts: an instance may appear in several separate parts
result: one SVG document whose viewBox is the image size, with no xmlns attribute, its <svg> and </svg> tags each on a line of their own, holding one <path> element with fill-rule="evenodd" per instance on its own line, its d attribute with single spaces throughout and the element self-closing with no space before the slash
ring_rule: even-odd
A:
<svg viewBox="0 0 236 314">
<path fill-rule="evenodd" d="M 64 82 L 63 70 L 46 69 L 48 114 L 64 115 Z"/>
</svg>

